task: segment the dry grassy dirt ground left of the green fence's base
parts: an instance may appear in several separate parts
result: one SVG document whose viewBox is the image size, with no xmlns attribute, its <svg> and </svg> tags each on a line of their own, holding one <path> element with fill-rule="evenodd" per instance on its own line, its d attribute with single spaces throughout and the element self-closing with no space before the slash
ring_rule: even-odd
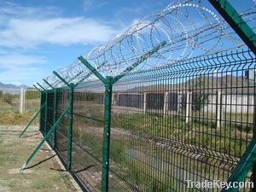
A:
<svg viewBox="0 0 256 192">
<path fill-rule="evenodd" d="M 42 139 L 36 127 L 19 138 L 22 128 L 0 126 L 0 192 L 81 191 L 45 143 L 27 169 L 20 172 L 20 167 Z"/>
</svg>

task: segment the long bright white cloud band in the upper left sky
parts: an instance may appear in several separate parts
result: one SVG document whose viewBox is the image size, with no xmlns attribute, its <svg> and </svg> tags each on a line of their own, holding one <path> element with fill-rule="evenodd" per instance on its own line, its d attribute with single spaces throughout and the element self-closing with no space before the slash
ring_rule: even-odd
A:
<svg viewBox="0 0 256 192">
<path fill-rule="evenodd" d="M 13 19 L 0 31 L 0 45 L 32 48 L 39 44 L 93 44 L 107 41 L 118 32 L 100 21 L 81 17 Z"/>
</svg>

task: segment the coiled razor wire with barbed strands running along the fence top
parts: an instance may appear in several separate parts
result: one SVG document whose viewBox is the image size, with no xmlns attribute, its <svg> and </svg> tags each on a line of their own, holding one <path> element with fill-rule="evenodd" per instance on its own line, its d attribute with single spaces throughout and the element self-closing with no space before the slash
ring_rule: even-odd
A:
<svg viewBox="0 0 256 192">
<path fill-rule="evenodd" d="M 254 7 L 243 11 L 241 17 L 254 29 L 255 0 L 253 3 Z M 244 46 L 229 24 L 203 6 L 201 1 L 178 1 L 138 20 L 106 44 L 91 49 L 84 58 L 104 76 L 124 75 L 127 67 L 132 67 L 133 63 L 161 42 L 166 42 L 166 45 L 133 71 L 163 67 L 196 55 Z M 56 72 L 68 83 L 96 79 L 79 60 Z M 65 86 L 54 74 L 45 79 L 53 87 Z M 42 84 L 49 89 L 48 84 Z"/>
</svg>

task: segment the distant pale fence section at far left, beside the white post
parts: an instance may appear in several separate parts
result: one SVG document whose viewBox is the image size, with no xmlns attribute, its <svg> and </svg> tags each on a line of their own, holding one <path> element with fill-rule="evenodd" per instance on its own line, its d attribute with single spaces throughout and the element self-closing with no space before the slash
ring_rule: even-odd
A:
<svg viewBox="0 0 256 192">
<path fill-rule="evenodd" d="M 0 113 L 20 112 L 20 89 L 0 90 Z"/>
</svg>

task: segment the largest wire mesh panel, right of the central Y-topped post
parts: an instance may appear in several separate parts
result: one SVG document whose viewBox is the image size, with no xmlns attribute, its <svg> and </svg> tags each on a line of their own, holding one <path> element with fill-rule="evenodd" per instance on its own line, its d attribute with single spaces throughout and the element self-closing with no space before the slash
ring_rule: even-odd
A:
<svg viewBox="0 0 256 192">
<path fill-rule="evenodd" d="M 254 70 L 255 56 L 241 50 L 114 84 L 110 191 L 190 191 L 188 180 L 227 181 L 253 138 L 255 80 L 246 74 Z"/>
</svg>

